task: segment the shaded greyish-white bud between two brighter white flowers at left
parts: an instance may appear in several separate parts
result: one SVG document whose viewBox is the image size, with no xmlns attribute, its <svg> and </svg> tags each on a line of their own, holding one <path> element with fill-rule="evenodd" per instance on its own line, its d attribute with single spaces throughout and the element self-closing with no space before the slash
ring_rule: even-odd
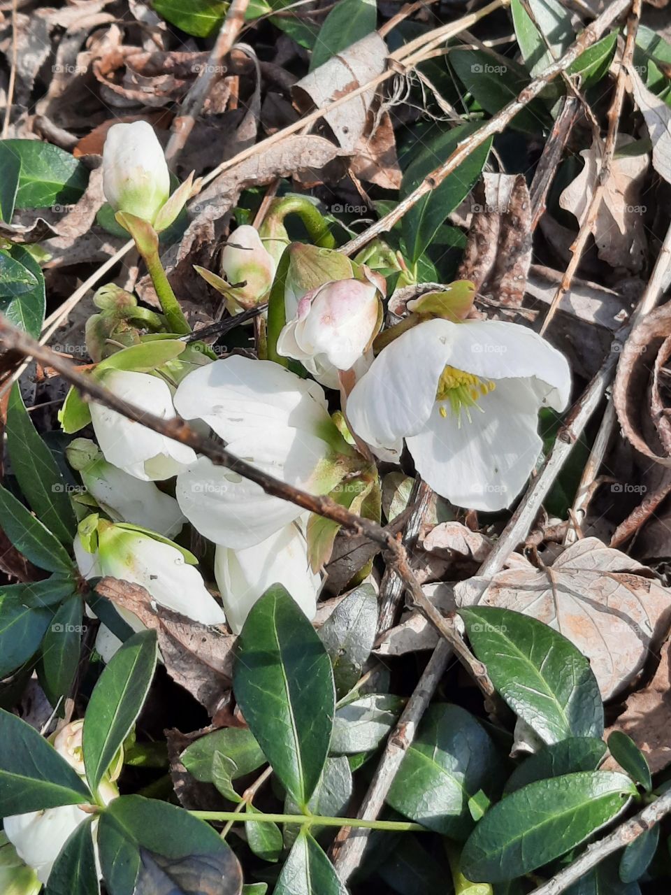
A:
<svg viewBox="0 0 671 895">
<path fill-rule="evenodd" d="M 81 463 L 89 458 L 83 466 L 73 450 L 78 445 L 86 446 L 86 457 L 84 448 L 81 448 Z M 169 494 L 158 490 L 154 482 L 141 482 L 107 463 L 93 442 L 87 439 L 75 439 L 66 453 L 71 465 L 80 470 L 81 481 L 88 493 L 114 522 L 140 525 L 166 538 L 174 538 L 181 531 L 185 519 L 179 504 Z"/>
</svg>

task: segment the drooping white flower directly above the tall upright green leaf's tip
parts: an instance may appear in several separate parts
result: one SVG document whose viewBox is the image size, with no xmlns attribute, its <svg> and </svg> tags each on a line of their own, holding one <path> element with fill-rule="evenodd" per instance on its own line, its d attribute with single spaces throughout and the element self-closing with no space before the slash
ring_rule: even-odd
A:
<svg viewBox="0 0 671 895">
<path fill-rule="evenodd" d="M 246 550 L 217 546 L 215 578 L 234 634 L 240 634 L 251 607 L 271 584 L 284 584 L 310 620 L 317 612 L 321 578 L 310 569 L 304 519 Z"/>
</svg>

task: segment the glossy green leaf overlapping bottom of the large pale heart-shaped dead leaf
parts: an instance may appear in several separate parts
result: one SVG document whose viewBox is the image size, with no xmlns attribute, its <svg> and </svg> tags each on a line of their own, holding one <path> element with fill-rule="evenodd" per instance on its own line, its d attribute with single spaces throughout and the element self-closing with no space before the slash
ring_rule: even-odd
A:
<svg viewBox="0 0 671 895">
<path fill-rule="evenodd" d="M 601 736 L 599 685 L 571 641 L 510 609 L 472 607 L 459 614 L 497 691 L 543 742 Z"/>
</svg>

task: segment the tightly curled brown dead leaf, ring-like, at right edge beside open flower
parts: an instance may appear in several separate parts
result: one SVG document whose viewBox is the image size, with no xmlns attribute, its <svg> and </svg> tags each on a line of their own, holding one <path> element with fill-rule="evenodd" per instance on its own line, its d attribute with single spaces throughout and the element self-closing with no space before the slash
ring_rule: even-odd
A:
<svg viewBox="0 0 671 895">
<path fill-rule="evenodd" d="M 671 304 L 652 311 L 627 339 L 613 400 L 622 430 L 636 450 L 671 466 L 669 409 L 660 392 L 660 375 L 671 353 Z"/>
</svg>

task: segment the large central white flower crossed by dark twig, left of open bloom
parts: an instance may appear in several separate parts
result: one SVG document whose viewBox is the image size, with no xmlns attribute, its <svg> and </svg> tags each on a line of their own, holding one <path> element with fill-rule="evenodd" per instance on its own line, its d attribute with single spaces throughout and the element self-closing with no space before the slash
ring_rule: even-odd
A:
<svg viewBox="0 0 671 895">
<path fill-rule="evenodd" d="M 236 355 L 210 363 L 183 379 L 174 405 L 207 422 L 234 456 L 283 482 L 324 494 L 342 477 L 327 462 L 327 439 L 337 433 L 323 389 L 276 363 Z M 207 457 L 177 477 L 176 496 L 201 534 L 234 550 L 265 541 L 303 512 Z"/>
</svg>

